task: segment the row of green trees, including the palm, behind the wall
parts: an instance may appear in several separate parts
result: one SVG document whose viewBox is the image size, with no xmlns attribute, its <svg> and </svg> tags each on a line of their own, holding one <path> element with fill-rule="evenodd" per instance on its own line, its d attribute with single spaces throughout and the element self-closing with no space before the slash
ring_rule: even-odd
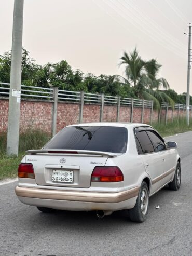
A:
<svg viewBox="0 0 192 256">
<path fill-rule="evenodd" d="M 73 71 L 66 60 L 47 63 L 43 66 L 37 65 L 30 57 L 29 51 L 23 48 L 21 83 L 26 86 L 59 87 L 63 90 L 83 90 L 123 98 L 154 100 L 154 106 L 157 109 L 162 102 L 169 102 L 171 105 L 174 102 L 186 103 L 185 93 L 177 95 L 174 90 L 169 89 L 166 79 L 158 77 L 161 65 L 156 59 L 144 61 L 135 48 L 129 54 L 124 52 L 120 60 L 120 65 L 125 65 L 126 78 L 119 75 L 84 74 L 79 69 Z M 0 56 L 0 82 L 10 82 L 10 66 L 11 51 L 8 51 Z M 38 91 L 36 88 L 31 90 Z M 190 98 L 190 104 L 192 104 L 192 98 Z"/>
</svg>

